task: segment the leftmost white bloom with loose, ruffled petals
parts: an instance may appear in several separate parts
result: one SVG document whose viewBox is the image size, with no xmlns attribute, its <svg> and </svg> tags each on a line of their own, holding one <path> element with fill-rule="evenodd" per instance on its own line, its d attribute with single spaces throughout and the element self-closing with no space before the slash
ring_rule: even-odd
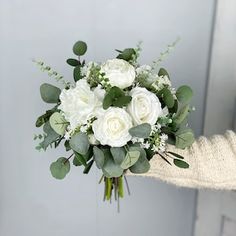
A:
<svg viewBox="0 0 236 236">
<path fill-rule="evenodd" d="M 85 79 L 81 79 L 76 82 L 75 88 L 64 89 L 60 94 L 59 109 L 64 112 L 72 130 L 86 124 L 96 110 L 102 107 L 102 100 L 96 96 L 96 92 L 91 91 Z"/>
</svg>

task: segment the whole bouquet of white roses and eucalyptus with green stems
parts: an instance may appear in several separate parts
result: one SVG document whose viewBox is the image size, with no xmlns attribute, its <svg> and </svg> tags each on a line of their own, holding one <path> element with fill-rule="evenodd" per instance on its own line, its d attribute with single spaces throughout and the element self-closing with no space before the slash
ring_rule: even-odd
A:
<svg viewBox="0 0 236 236">
<path fill-rule="evenodd" d="M 114 195 L 119 200 L 124 195 L 124 180 L 127 183 L 125 174 L 148 172 L 153 157 L 189 167 L 184 157 L 166 149 L 167 143 L 184 149 L 194 141 L 187 124 L 192 89 L 183 85 L 175 90 L 168 72 L 159 68 L 174 45 L 150 66 L 138 63 L 140 44 L 116 50 L 116 58 L 103 63 L 86 63 L 81 57 L 87 45 L 78 41 L 73 46 L 76 58 L 67 60 L 73 67 L 74 82 L 34 60 L 63 85 L 62 90 L 41 85 L 42 100 L 53 107 L 36 121 L 36 127 L 43 126 L 43 134 L 35 135 L 40 140 L 36 149 L 57 148 L 63 143 L 69 153 L 51 164 L 53 177 L 63 179 L 72 163 L 83 168 L 84 174 L 96 166 L 101 171 L 100 182 L 105 183 L 104 199 Z"/>
</svg>

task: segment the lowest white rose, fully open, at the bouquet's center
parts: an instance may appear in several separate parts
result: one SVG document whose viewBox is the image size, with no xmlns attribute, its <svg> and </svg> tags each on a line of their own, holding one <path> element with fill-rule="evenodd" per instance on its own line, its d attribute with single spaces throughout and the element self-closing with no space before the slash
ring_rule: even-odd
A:
<svg viewBox="0 0 236 236">
<path fill-rule="evenodd" d="M 102 145 L 111 147 L 122 147 L 130 141 L 131 127 L 130 115 L 124 109 L 113 107 L 108 108 L 92 125 L 95 138 Z"/>
</svg>

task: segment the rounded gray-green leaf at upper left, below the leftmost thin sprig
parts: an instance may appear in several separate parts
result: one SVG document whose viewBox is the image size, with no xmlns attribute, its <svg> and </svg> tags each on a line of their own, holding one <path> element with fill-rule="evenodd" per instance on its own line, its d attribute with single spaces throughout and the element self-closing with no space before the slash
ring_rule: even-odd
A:
<svg viewBox="0 0 236 236">
<path fill-rule="evenodd" d="M 61 90 L 51 84 L 42 84 L 40 86 L 40 95 L 44 102 L 58 103 Z"/>
</svg>

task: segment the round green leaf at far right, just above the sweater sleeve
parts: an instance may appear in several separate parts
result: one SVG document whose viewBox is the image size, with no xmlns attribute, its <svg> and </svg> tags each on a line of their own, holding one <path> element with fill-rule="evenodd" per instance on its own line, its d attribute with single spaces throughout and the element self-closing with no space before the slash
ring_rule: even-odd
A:
<svg viewBox="0 0 236 236">
<path fill-rule="evenodd" d="M 175 138 L 175 146 L 181 149 L 190 147 L 195 141 L 194 134 L 191 129 L 185 129 L 176 132 Z"/>
</svg>

